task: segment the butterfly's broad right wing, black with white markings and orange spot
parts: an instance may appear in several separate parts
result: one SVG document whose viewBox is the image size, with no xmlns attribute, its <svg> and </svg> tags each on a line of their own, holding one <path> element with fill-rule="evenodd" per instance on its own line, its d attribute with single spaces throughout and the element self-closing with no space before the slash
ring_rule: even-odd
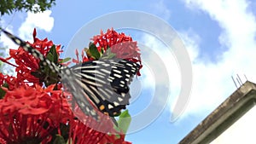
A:
<svg viewBox="0 0 256 144">
<path fill-rule="evenodd" d="M 112 117 L 129 104 L 129 84 L 138 69 L 139 65 L 129 60 L 93 60 L 72 67 L 90 100 Z"/>
</svg>

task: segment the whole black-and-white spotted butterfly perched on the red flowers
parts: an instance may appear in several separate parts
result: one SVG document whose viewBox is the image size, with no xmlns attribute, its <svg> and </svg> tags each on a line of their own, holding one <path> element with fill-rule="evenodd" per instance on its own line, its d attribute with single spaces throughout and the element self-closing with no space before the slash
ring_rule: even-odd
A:
<svg viewBox="0 0 256 144">
<path fill-rule="evenodd" d="M 119 115 L 129 105 L 132 78 L 139 70 L 139 65 L 125 59 L 90 60 L 75 66 L 57 66 L 46 59 L 29 43 L 1 29 L 16 44 L 38 58 L 42 66 L 48 66 L 57 74 L 85 115 L 98 120 L 97 111 L 110 117 Z"/>
</svg>

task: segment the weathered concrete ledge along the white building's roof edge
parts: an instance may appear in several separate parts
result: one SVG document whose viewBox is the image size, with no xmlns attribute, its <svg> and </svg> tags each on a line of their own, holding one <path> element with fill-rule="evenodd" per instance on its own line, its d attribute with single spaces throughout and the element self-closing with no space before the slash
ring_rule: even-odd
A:
<svg viewBox="0 0 256 144">
<path fill-rule="evenodd" d="M 247 81 L 186 135 L 179 144 L 210 143 L 251 109 L 255 101 L 256 84 Z"/>
</svg>

